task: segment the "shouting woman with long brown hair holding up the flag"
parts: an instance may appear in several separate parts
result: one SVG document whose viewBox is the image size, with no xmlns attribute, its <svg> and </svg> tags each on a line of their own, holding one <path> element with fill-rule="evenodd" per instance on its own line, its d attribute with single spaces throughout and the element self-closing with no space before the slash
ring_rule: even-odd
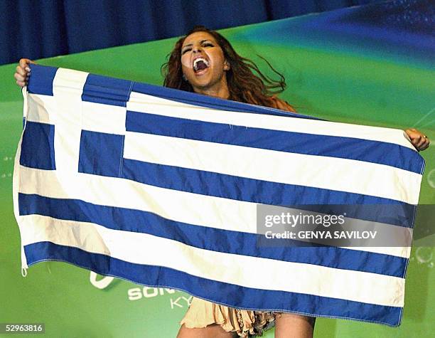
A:
<svg viewBox="0 0 435 338">
<path fill-rule="evenodd" d="M 30 75 L 29 63 L 33 62 L 21 59 L 16 68 L 14 77 L 21 87 Z M 274 96 L 285 88 L 282 75 L 279 81 L 267 78 L 223 36 L 204 27 L 194 28 L 177 41 L 163 65 L 163 74 L 166 87 L 294 112 L 291 105 Z M 421 132 L 405 132 L 418 150 L 429 147 L 429 139 Z M 249 337 L 262 334 L 273 324 L 275 337 L 312 337 L 314 323 L 314 317 L 238 310 L 193 297 L 177 337 Z"/>
</svg>

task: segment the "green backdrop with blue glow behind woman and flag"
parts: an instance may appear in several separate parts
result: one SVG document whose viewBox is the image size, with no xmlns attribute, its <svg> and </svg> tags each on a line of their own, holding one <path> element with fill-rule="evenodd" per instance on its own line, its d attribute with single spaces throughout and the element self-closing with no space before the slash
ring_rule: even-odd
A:
<svg viewBox="0 0 435 338">
<path fill-rule="evenodd" d="M 435 139 L 435 72 L 417 53 L 337 31 L 310 28 L 304 16 L 221 31 L 242 56 L 267 57 L 284 73 L 281 97 L 299 112 L 338 122 L 416 127 Z M 307 28 L 308 27 L 308 28 Z M 38 60 L 42 65 L 161 85 L 160 67 L 176 39 Z M 375 42 L 374 42 L 375 41 Z M 382 42 L 382 41 L 381 41 Z M 32 266 L 21 277 L 20 238 L 11 187 L 22 126 L 16 65 L 0 67 L 0 322 L 45 322 L 46 337 L 175 337 L 189 296 L 176 290 L 112 280 L 99 289 L 90 272 L 66 263 Z M 421 204 L 435 202 L 435 146 L 422 153 Z M 418 226 L 418 224 L 416 225 Z M 435 301 L 434 248 L 412 250 L 402 325 L 318 319 L 315 337 L 429 337 Z M 102 277 L 99 276 L 98 279 Z M 0 334 L 1 336 L 1 334 Z M 273 337 L 269 331 L 264 337 Z"/>
</svg>

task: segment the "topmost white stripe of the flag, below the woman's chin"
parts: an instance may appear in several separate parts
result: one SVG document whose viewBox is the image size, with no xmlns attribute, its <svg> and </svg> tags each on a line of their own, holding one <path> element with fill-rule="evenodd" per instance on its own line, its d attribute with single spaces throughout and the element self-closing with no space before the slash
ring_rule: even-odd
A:
<svg viewBox="0 0 435 338">
<path fill-rule="evenodd" d="M 267 110 L 267 108 L 264 108 Z M 301 132 L 306 134 L 329 135 L 335 137 L 353 137 L 372 141 L 389 142 L 413 149 L 407 134 L 403 130 L 351 125 L 347 123 L 307 120 L 297 117 L 282 117 L 246 112 L 230 112 L 207 107 L 162 99 L 151 95 L 131 92 L 127 110 L 151 114 L 180 117 L 188 120 L 240 125 L 243 127 Z"/>
</svg>

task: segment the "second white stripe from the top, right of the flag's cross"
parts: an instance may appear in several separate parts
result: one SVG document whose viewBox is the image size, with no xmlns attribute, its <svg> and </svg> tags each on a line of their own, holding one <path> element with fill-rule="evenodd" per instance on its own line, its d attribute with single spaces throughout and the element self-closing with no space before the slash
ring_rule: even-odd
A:
<svg viewBox="0 0 435 338">
<path fill-rule="evenodd" d="M 385 164 L 127 132 L 124 157 L 418 204 L 421 175 Z"/>
</svg>

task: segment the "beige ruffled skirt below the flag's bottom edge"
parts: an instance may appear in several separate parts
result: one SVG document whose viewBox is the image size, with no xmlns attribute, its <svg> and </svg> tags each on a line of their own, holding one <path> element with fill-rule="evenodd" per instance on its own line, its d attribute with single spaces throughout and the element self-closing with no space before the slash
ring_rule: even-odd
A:
<svg viewBox="0 0 435 338">
<path fill-rule="evenodd" d="M 237 332 L 240 337 L 262 336 L 263 331 L 275 324 L 276 312 L 239 310 L 193 297 L 180 324 L 188 328 L 219 324 L 226 332 Z"/>
</svg>

